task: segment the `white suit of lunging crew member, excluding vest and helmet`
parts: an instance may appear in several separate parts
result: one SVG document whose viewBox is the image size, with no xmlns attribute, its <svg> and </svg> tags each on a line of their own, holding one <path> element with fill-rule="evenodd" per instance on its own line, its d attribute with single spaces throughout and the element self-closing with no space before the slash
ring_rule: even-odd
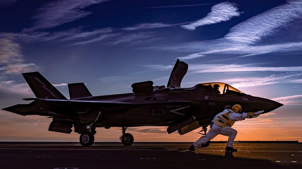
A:
<svg viewBox="0 0 302 169">
<path fill-rule="evenodd" d="M 212 122 L 214 122 L 214 120 L 217 118 L 217 116 L 219 114 L 220 113 L 218 113 L 214 117 Z M 227 113 L 227 116 L 231 120 L 235 120 L 235 121 L 244 120 L 245 118 L 248 117 L 247 113 L 239 114 L 239 113 L 235 113 L 235 112 Z M 227 147 L 233 147 L 233 143 L 234 143 L 234 139 L 237 135 L 237 131 L 235 129 L 232 129 L 230 126 L 220 127 L 220 126 L 217 126 L 215 124 L 213 124 L 213 126 L 211 127 L 211 129 L 209 130 L 209 132 L 206 135 L 202 136 L 195 143 L 193 143 L 193 146 L 199 147 L 201 144 L 205 144 L 209 140 L 214 139 L 214 137 L 216 137 L 219 134 L 229 136 L 229 139 L 227 140 L 227 145 L 226 146 Z"/>
</svg>

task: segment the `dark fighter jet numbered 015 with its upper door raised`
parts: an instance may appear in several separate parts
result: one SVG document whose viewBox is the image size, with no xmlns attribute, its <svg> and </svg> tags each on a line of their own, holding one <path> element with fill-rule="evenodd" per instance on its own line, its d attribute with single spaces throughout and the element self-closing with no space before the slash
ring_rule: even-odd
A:
<svg viewBox="0 0 302 169">
<path fill-rule="evenodd" d="M 188 64 L 177 59 L 167 87 L 153 86 L 152 81 L 131 85 L 133 93 L 92 96 L 84 83 L 68 84 L 70 99 L 61 94 L 39 72 L 23 73 L 23 77 L 37 98 L 24 100 L 4 108 L 19 115 L 49 116 L 52 122 L 48 131 L 80 134 L 80 143 L 91 146 L 97 127 L 121 127 L 120 140 L 132 145 L 134 138 L 126 133 L 127 127 L 167 126 L 167 133 L 178 131 L 184 135 L 206 127 L 224 109 L 240 104 L 244 112 L 273 111 L 283 104 L 273 100 L 245 94 L 222 82 L 197 84 L 181 88 Z M 253 118 L 253 117 L 249 117 Z M 205 146 L 208 146 L 209 143 Z"/>
</svg>

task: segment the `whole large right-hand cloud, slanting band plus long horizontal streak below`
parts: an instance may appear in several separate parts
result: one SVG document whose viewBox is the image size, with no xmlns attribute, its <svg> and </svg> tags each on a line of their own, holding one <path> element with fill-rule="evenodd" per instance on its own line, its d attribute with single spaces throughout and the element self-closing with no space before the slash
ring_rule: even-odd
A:
<svg viewBox="0 0 302 169">
<path fill-rule="evenodd" d="M 282 28 L 292 28 L 302 17 L 302 1 L 288 1 L 284 5 L 274 7 L 261 14 L 253 16 L 230 29 L 223 38 L 172 44 L 168 46 L 149 47 L 158 50 L 170 50 L 178 52 L 194 52 L 180 59 L 193 59 L 204 57 L 207 54 L 233 54 L 237 56 L 253 56 L 259 54 L 289 52 L 302 50 L 300 39 L 295 41 L 274 40 L 276 34 Z M 283 29 L 283 31 L 285 31 Z M 297 33 L 296 30 L 295 33 Z M 261 41 L 266 38 L 265 42 Z M 279 38 L 280 39 L 280 38 Z M 288 38 L 283 38 L 288 39 Z"/>
</svg>

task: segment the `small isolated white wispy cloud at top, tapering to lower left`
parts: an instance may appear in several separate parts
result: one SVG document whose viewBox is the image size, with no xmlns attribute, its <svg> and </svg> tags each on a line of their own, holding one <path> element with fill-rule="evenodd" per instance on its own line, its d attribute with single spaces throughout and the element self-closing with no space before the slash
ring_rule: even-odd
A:
<svg viewBox="0 0 302 169">
<path fill-rule="evenodd" d="M 230 2 L 222 2 L 217 5 L 212 6 L 211 12 L 209 12 L 204 18 L 199 19 L 193 23 L 188 25 L 182 25 L 183 29 L 187 30 L 195 30 L 196 27 L 203 25 L 211 25 L 214 23 L 219 23 L 222 21 L 229 21 L 231 18 L 236 16 L 240 16 L 241 12 L 239 12 L 237 5 L 235 3 Z"/>
</svg>

